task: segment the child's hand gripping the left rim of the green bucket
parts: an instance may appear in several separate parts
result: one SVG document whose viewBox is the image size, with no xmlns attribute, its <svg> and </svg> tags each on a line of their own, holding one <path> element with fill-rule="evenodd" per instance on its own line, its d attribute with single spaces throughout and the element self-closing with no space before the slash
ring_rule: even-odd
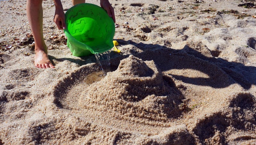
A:
<svg viewBox="0 0 256 145">
<path fill-rule="evenodd" d="M 63 9 L 55 9 L 55 15 L 53 21 L 56 23 L 59 30 L 66 29 L 65 13 Z"/>
</svg>

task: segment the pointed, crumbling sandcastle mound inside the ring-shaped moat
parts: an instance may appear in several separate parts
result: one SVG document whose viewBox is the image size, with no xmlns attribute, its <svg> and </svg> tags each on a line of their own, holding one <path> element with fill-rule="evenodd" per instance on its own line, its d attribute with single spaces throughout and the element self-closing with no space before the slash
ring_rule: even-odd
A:
<svg viewBox="0 0 256 145">
<path fill-rule="evenodd" d="M 153 60 L 130 55 L 116 71 L 88 87 L 79 102 L 81 107 L 114 110 L 120 116 L 166 121 L 180 113 L 181 103 L 181 95 L 166 83 Z"/>
</svg>

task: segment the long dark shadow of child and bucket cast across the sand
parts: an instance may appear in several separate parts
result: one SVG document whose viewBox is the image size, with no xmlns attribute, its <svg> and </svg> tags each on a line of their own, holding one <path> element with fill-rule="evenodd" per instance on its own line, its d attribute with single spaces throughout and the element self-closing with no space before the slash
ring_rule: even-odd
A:
<svg viewBox="0 0 256 145">
<path fill-rule="evenodd" d="M 136 43 L 131 40 L 125 41 L 117 39 L 120 46 L 122 45 L 133 45 L 137 49 L 143 52 L 130 50 L 130 54 L 142 59 L 142 60 L 154 60 L 156 65 L 162 72 L 172 69 L 191 69 L 203 72 L 209 76 L 209 78 L 190 78 L 183 75 L 172 75 L 175 79 L 181 80 L 185 83 L 200 85 L 200 86 L 211 86 L 214 88 L 224 88 L 231 84 L 238 83 L 244 89 L 250 89 L 251 86 L 256 84 L 256 67 L 244 66 L 239 62 L 228 62 L 222 58 L 207 57 L 201 52 L 196 51 L 185 45 L 181 50 L 174 50 L 162 45 Z M 211 52 L 208 49 L 209 52 Z M 212 53 L 212 52 L 211 52 Z M 127 58 L 128 55 L 119 55 L 111 52 L 111 71 L 117 69 L 120 60 Z M 56 59 L 50 56 L 50 59 Z M 90 59 L 91 61 L 87 61 Z M 71 58 L 60 58 L 57 61 L 68 60 L 79 66 L 86 65 L 88 63 L 96 62 L 95 57 L 85 56 L 80 59 Z"/>
</svg>

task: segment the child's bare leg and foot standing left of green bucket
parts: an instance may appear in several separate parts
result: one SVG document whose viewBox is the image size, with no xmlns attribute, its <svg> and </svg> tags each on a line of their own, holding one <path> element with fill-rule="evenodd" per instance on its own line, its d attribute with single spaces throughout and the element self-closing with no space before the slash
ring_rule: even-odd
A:
<svg viewBox="0 0 256 145">
<path fill-rule="evenodd" d="M 28 22 L 35 39 L 35 66 L 39 68 L 54 68 L 47 55 L 47 47 L 43 36 L 43 0 L 27 0 Z"/>
</svg>

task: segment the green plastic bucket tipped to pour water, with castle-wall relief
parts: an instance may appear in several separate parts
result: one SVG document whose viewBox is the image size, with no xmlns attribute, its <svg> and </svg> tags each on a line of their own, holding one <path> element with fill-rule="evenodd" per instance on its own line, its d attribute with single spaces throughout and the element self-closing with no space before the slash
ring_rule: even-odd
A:
<svg viewBox="0 0 256 145">
<path fill-rule="evenodd" d="M 107 12 L 91 3 L 77 4 L 65 13 L 68 40 L 72 55 L 87 56 L 114 47 L 115 24 Z"/>
</svg>

